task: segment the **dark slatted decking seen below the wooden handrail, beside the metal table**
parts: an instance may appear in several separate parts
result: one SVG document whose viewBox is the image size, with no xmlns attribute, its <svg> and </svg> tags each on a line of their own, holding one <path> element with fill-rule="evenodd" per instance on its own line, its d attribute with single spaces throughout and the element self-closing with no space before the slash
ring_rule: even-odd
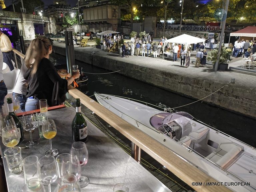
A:
<svg viewBox="0 0 256 192">
<path fill-rule="evenodd" d="M 65 104 L 70 107 L 74 101 L 75 99 L 72 98 L 66 100 Z M 131 155 L 131 141 L 129 139 L 127 139 L 113 127 L 110 127 L 96 114 L 92 114 L 92 111 L 84 105 L 81 105 L 81 111 L 89 121 L 93 122 L 100 130 L 102 130 L 102 132 L 104 132 L 124 151 Z M 158 163 L 144 151 L 141 151 L 141 165 L 173 192 L 194 191 L 189 185 L 184 183 L 169 170 L 164 169 L 160 163 Z"/>
</svg>

